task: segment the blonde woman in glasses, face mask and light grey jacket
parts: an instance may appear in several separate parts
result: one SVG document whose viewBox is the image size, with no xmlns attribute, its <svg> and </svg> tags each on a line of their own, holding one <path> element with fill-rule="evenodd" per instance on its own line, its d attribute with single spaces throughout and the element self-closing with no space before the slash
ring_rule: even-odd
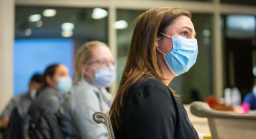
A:
<svg viewBox="0 0 256 139">
<path fill-rule="evenodd" d="M 75 58 L 74 86 L 59 111 L 66 138 L 109 138 L 106 127 L 93 122 L 93 113 L 108 112 L 111 97 L 105 88 L 115 79 L 115 60 L 103 42 L 83 44 Z"/>
</svg>

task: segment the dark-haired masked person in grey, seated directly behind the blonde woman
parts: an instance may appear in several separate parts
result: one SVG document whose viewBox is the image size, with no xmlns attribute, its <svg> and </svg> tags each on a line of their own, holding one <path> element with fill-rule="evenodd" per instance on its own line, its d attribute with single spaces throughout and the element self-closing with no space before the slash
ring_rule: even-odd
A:
<svg viewBox="0 0 256 139">
<path fill-rule="evenodd" d="M 72 79 L 63 64 L 49 65 L 43 75 L 44 85 L 29 108 L 29 115 L 37 122 L 42 110 L 56 113 L 61 96 L 72 88 Z"/>
</svg>

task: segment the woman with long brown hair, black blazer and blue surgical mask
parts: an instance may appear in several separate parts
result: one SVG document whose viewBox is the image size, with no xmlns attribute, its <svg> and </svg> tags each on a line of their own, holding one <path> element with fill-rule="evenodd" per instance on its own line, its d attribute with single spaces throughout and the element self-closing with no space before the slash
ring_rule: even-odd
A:
<svg viewBox="0 0 256 139">
<path fill-rule="evenodd" d="M 129 55 L 110 111 L 115 137 L 193 139 L 198 135 L 169 83 L 195 63 L 191 13 L 152 8 L 138 16 Z"/>
</svg>

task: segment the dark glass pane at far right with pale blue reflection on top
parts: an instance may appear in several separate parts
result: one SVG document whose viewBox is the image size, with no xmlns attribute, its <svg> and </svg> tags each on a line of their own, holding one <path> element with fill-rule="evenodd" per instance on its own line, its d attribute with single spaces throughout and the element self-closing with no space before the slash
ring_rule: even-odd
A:
<svg viewBox="0 0 256 139">
<path fill-rule="evenodd" d="M 252 90 L 256 76 L 256 18 L 223 15 L 222 19 L 224 88 L 237 87 L 243 97 Z"/>
</svg>

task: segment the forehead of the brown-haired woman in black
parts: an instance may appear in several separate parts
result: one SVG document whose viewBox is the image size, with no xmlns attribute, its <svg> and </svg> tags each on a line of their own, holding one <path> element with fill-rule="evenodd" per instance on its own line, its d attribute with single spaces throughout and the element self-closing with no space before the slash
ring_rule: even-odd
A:
<svg viewBox="0 0 256 139">
<path fill-rule="evenodd" d="M 194 28 L 193 23 L 191 22 L 191 19 L 186 16 L 179 16 L 175 19 L 173 24 L 170 24 L 166 28 L 166 32 L 173 31 L 173 30 L 179 30 L 179 29 L 186 28 L 186 27 L 191 28 L 192 33 L 195 33 L 195 28 Z"/>
</svg>

